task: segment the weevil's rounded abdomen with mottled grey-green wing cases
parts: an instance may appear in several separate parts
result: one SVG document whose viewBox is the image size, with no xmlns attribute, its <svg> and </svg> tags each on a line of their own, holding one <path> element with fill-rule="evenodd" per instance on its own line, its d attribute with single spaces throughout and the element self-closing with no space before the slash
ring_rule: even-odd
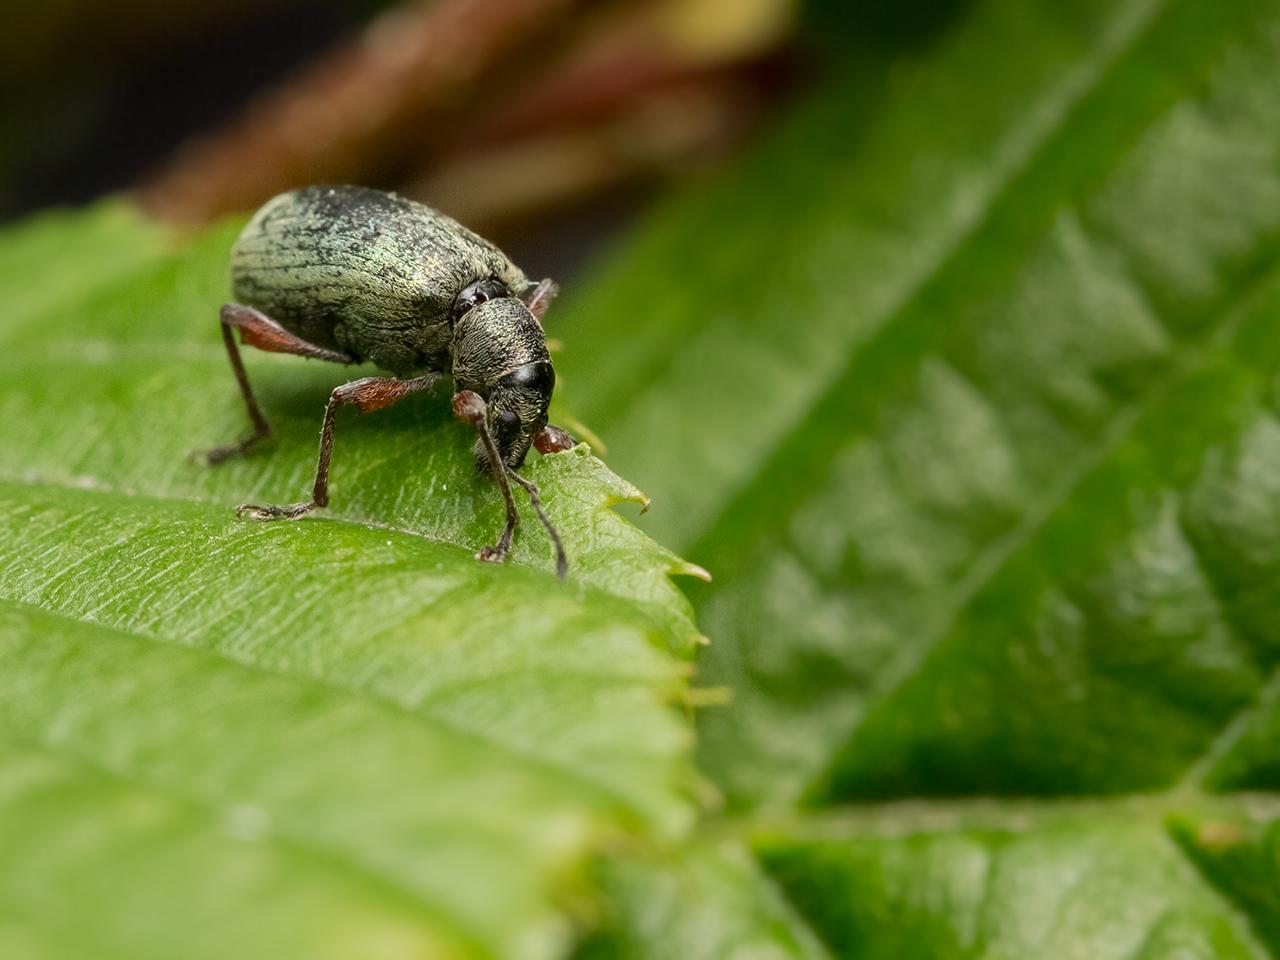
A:
<svg viewBox="0 0 1280 960">
<path fill-rule="evenodd" d="M 485 276 L 527 285 L 461 224 L 364 187 L 305 187 L 268 201 L 236 241 L 230 274 L 239 302 L 399 375 L 448 367 L 463 287 Z"/>
</svg>

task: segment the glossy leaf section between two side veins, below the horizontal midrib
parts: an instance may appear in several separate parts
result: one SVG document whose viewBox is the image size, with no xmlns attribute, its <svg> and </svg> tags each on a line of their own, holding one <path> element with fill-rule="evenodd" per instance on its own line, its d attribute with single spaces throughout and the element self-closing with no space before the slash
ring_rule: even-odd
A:
<svg viewBox="0 0 1280 960">
<path fill-rule="evenodd" d="M 968 822 L 838 824 L 760 855 L 836 956 L 1266 956 L 1147 812 L 948 815 Z"/>
</svg>

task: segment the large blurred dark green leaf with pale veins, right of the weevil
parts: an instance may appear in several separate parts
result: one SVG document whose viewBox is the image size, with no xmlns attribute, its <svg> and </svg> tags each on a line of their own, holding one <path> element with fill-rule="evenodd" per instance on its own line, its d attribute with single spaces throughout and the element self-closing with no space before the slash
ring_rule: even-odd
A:
<svg viewBox="0 0 1280 960">
<path fill-rule="evenodd" d="M 977 0 L 570 303 L 576 408 L 716 577 L 717 828 L 836 956 L 1280 952 L 1275 804 L 1187 840 L 1280 786 L 1277 56 L 1274 0 Z"/>
</svg>

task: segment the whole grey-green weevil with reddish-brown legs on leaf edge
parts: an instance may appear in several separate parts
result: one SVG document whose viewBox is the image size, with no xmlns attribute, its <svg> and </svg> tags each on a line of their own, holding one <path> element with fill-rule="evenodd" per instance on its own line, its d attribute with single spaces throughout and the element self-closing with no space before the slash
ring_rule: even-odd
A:
<svg viewBox="0 0 1280 960">
<path fill-rule="evenodd" d="M 476 466 L 494 476 L 507 508 L 502 532 L 477 559 L 500 563 L 511 549 L 520 522 L 515 483 L 547 527 L 564 576 L 564 547 L 538 486 L 516 472 L 530 447 L 554 453 L 573 445 L 547 422 L 556 371 L 541 319 L 557 293 L 552 280 L 531 282 L 495 246 L 431 207 L 365 187 L 303 187 L 268 201 L 232 247 L 230 280 L 236 302 L 221 308 L 221 334 L 252 431 L 193 456 L 221 463 L 271 435 L 237 333 L 257 349 L 367 361 L 392 374 L 329 394 L 310 500 L 244 503 L 239 516 L 297 520 L 328 506 L 338 410 L 383 410 L 449 374 L 453 413 L 475 429 Z"/>
</svg>

